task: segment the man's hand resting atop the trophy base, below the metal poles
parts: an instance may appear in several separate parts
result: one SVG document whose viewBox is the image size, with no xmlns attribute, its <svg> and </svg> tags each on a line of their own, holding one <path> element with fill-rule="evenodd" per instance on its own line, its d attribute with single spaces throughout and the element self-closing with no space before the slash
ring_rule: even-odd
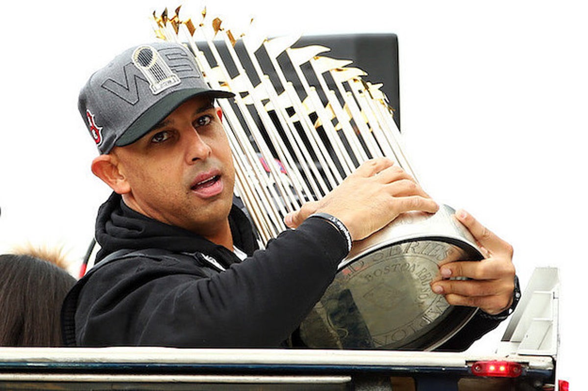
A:
<svg viewBox="0 0 588 391">
<path fill-rule="evenodd" d="M 338 218 L 352 240 L 360 240 L 385 227 L 400 213 L 435 213 L 439 206 L 415 179 L 388 158 L 368 160 L 322 200 L 305 203 L 289 213 L 286 226 L 296 228 L 313 213 L 324 212 Z"/>
</svg>

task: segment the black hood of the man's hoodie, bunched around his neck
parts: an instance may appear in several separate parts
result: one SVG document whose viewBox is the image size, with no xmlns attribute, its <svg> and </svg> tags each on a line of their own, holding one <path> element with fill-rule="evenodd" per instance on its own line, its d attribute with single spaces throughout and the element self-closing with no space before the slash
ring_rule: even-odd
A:
<svg viewBox="0 0 588 391">
<path fill-rule="evenodd" d="M 243 211 L 235 204 L 230 210 L 229 224 L 235 246 L 251 256 L 258 247 L 253 228 Z M 96 241 L 101 246 L 96 262 L 122 248 L 163 248 L 188 253 L 199 251 L 215 259 L 235 257 L 228 248 L 212 243 L 198 234 L 132 210 L 123 202 L 122 196 L 116 193 L 112 193 L 99 208 L 95 234 Z"/>
</svg>

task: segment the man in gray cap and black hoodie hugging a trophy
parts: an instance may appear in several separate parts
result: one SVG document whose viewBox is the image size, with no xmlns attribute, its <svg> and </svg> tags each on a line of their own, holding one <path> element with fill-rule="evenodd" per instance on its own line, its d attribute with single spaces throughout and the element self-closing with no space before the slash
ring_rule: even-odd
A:
<svg viewBox="0 0 588 391">
<path fill-rule="evenodd" d="M 100 155 L 92 172 L 113 194 L 96 219 L 96 266 L 64 303 L 66 343 L 82 346 L 275 347 L 332 281 L 353 240 L 435 201 L 390 160 L 361 165 L 320 201 L 286 216 L 296 228 L 256 251 L 233 205 L 235 170 L 215 98 L 188 49 L 131 48 L 82 88 L 79 110 Z M 443 266 L 433 290 L 478 306 L 469 345 L 513 301 L 510 246 L 467 214 L 458 218 L 488 251 Z M 497 315 L 497 316 L 495 316 Z"/>
</svg>

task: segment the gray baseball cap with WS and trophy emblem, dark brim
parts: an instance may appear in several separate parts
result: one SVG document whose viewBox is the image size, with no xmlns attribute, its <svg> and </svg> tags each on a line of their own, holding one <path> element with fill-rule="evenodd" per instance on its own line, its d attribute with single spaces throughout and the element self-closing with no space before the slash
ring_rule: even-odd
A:
<svg viewBox="0 0 588 391">
<path fill-rule="evenodd" d="M 95 72 L 79 94 L 78 109 L 101 154 L 132 144 L 196 95 L 230 98 L 211 90 L 192 52 L 153 42 L 127 49 Z"/>
</svg>

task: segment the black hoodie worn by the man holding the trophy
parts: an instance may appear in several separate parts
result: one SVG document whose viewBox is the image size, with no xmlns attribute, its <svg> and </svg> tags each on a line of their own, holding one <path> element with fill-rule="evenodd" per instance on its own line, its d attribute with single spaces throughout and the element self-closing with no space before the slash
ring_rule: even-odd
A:
<svg viewBox="0 0 588 391">
<path fill-rule="evenodd" d="M 232 251 L 143 216 L 112 194 L 98 212 L 95 270 L 64 303 L 64 339 L 78 346 L 278 347 L 332 282 L 347 254 L 332 224 L 309 218 L 257 250 L 252 226 L 233 205 Z M 126 250 L 148 251 L 100 261 Z M 212 257 L 223 269 L 207 259 Z M 72 294 L 72 292 L 76 294 Z M 475 317 L 443 348 L 463 350 L 499 324 Z"/>
</svg>

